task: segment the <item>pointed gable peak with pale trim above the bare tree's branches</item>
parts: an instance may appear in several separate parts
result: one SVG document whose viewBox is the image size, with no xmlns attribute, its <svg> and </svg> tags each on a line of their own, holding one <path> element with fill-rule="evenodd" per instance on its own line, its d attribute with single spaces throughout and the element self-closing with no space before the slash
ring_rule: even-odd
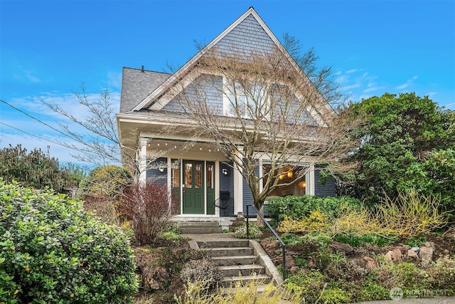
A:
<svg viewBox="0 0 455 304">
<path fill-rule="evenodd" d="M 250 9 L 245 11 L 242 16 L 240 16 L 236 21 L 228 26 L 228 28 L 226 28 L 222 33 L 220 33 L 220 35 L 213 39 L 213 41 L 208 43 L 208 45 L 196 53 L 193 58 L 182 65 L 181 68 L 176 71 L 176 73 L 167 78 L 163 83 L 161 83 L 161 85 L 159 85 L 159 87 L 157 87 L 143 100 L 141 100 L 141 102 L 133 108 L 133 111 L 139 111 L 144 108 L 149 108 L 151 105 L 153 105 L 157 98 L 166 93 L 166 90 L 170 88 L 171 85 L 183 78 L 186 73 L 191 70 L 193 65 L 195 65 L 197 61 L 202 56 L 204 56 L 205 53 L 208 53 L 210 49 L 216 46 L 223 51 L 232 52 L 232 50 L 229 49 L 229 47 L 232 45 L 235 45 L 242 51 L 265 51 L 267 49 L 270 49 L 272 46 L 275 46 L 279 48 L 279 50 L 282 51 L 285 56 L 287 56 L 291 65 L 293 65 L 294 68 L 296 68 L 296 70 L 301 73 L 302 77 L 308 79 L 306 75 L 301 72 L 301 69 L 296 64 L 294 59 L 291 58 L 289 53 L 279 42 L 278 38 L 274 36 L 269 27 L 264 23 L 264 21 L 262 21 L 255 9 L 253 7 L 250 7 Z M 323 100 L 322 95 L 321 98 Z"/>
</svg>

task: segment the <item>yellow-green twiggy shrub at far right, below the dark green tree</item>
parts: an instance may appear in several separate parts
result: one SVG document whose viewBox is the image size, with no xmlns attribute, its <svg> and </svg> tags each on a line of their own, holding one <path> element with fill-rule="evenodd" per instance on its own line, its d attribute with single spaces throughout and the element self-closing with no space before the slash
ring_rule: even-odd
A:
<svg viewBox="0 0 455 304">
<path fill-rule="evenodd" d="M 377 206 L 375 218 L 382 227 L 400 236 L 419 236 L 446 226 L 447 213 L 439 212 L 439 196 L 425 195 L 415 190 L 400 192 L 395 199 L 385 196 Z"/>
</svg>

